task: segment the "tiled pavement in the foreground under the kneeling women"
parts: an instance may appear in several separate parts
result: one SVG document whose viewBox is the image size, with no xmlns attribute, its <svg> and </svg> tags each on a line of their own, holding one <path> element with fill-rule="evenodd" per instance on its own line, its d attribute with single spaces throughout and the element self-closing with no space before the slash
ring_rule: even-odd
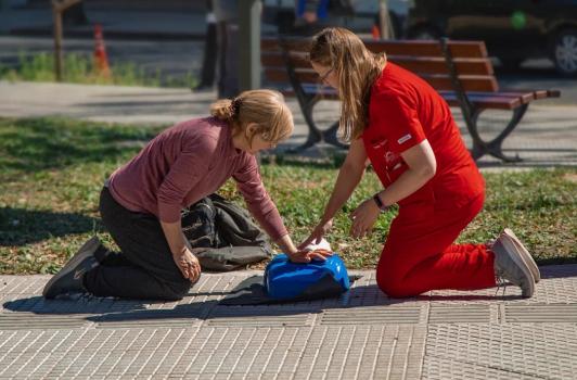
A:
<svg viewBox="0 0 577 380">
<path fill-rule="evenodd" d="M 255 274 L 205 274 L 170 303 L 46 301 L 49 276 L 0 276 L 0 378 L 577 379 L 577 265 L 542 267 L 530 300 L 393 300 L 359 271 L 341 299 L 218 304 Z"/>
</svg>

